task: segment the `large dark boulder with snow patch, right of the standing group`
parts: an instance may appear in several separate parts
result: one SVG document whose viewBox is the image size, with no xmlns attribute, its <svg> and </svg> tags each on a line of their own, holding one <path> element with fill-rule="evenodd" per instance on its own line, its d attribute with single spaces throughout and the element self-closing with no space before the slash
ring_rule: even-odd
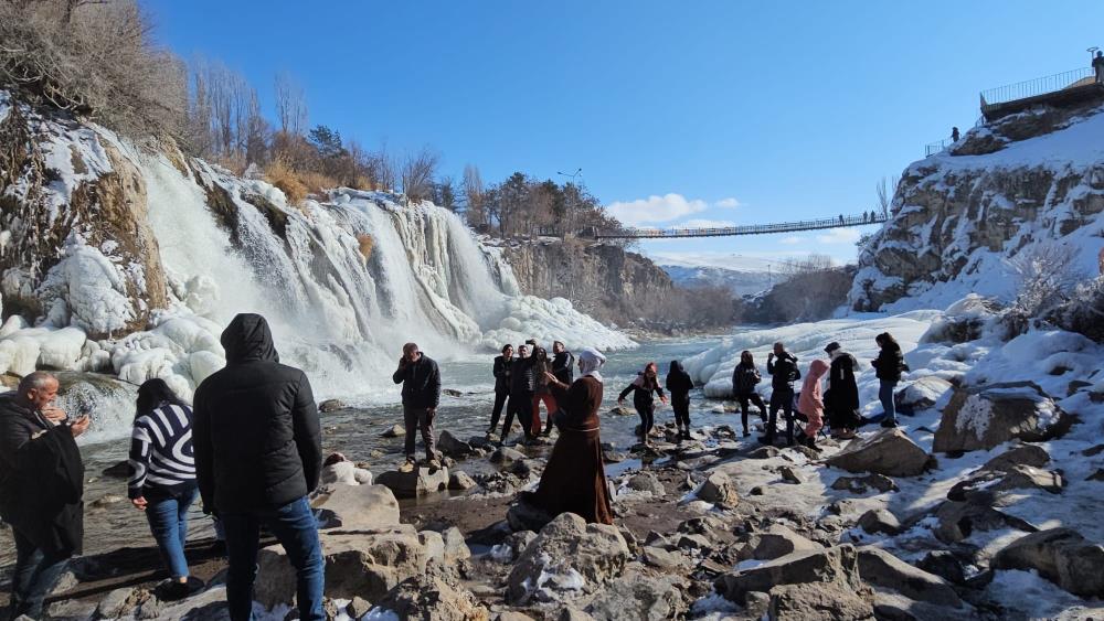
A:
<svg viewBox="0 0 1104 621">
<path fill-rule="evenodd" d="M 935 452 L 988 450 L 1009 440 L 1041 442 L 1061 437 L 1073 425 L 1031 382 L 956 388 L 935 432 Z"/>
</svg>

